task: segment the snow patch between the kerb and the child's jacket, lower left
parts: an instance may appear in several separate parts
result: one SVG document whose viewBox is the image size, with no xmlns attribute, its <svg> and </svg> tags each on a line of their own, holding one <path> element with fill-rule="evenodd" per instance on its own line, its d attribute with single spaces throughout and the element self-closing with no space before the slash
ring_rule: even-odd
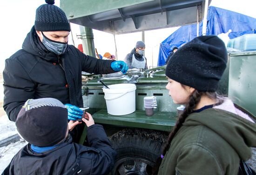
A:
<svg viewBox="0 0 256 175">
<path fill-rule="evenodd" d="M 23 139 L 20 141 L 11 143 L 7 146 L 0 147 L 0 173 L 9 165 L 13 156 L 23 148 L 27 142 Z"/>
</svg>

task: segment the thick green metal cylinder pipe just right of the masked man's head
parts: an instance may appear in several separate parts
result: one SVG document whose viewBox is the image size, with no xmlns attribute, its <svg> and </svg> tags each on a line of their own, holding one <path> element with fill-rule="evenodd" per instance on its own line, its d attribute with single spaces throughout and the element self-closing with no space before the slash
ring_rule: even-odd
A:
<svg viewBox="0 0 256 175">
<path fill-rule="evenodd" d="M 79 27 L 81 32 L 84 54 L 95 57 L 93 30 L 91 28 L 84 27 L 81 25 Z"/>
</svg>

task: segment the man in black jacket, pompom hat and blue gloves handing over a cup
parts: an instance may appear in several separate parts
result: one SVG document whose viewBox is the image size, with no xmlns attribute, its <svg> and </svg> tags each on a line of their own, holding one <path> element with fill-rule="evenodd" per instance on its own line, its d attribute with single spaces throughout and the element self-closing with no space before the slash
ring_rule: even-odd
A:
<svg viewBox="0 0 256 175">
<path fill-rule="evenodd" d="M 27 99 L 52 97 L 66 104 L 68 119 L 81 119 L 83 107 L 81 72 L 109 74 L 128 70 L 122 61 L 100 60 L 68 45 L 70 25 L 66 14 L 46 0 L 36 9 L 35 23 L 22 49 L 5 61 L 4 110 L 11 121 Z M 58 124 L 56 124 L 58 125 Z M 78 128 L 81 130 L 76 131 Z M 78 125 L 72 137 L 78 142 Z"/>
</svg>

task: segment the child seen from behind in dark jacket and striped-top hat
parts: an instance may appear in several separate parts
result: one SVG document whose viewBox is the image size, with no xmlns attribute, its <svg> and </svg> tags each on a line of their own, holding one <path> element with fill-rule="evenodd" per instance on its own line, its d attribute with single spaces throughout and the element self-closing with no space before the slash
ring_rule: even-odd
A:
<svg viewBox="0 0 256 175">
<path fill-rule="evenodd" d="M 68 130 L 79 122 L 67 123 L 67 113 L 57 99 L 27 100 L 15 125 L 28 144 L 13 157 L 3 175 L 107 175 L 116 151 L 103 127 L 95 125 L 86 113 L 87 119 L 82 121 L 88 126 L 88 146 L 75 144 Z"/>
</svg>

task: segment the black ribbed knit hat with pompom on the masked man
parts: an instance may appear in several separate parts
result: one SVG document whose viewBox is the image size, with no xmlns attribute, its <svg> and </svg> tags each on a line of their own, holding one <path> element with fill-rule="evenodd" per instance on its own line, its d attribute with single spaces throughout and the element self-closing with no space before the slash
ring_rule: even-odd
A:
<svg viewBox="0 0 256 175">
<path fill-rule="evenodd" d="M 70 25 L 66 14 L 54 6 L 54 0 L 45 0 L 36 9 L 34 28 L 36 31 L 70 31 Z"/>
</svg>

